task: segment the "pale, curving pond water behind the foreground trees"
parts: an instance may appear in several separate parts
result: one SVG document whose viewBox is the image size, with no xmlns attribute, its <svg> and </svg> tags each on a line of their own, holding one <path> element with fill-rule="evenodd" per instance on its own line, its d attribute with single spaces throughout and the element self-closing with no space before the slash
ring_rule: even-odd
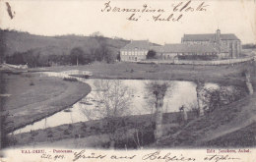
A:
<svg viewBox="0 0 256 162">
<path fill-rule="evenodd" d="M 43 72 L 41 75 L 49 77 L 70 78 L 65 73 Z M 74 78 L 74 77 L 73 77 Z M 96 108 L 96 86 L 95 82 L 101 79 L 82 79 L 76 78 L 78 81 L 83 81 L 91 85 L 92 91 L 83 99 L 75 103 L 72 107 L 62 110 L 46 117 L 32 125 L 19 129 L 14 134 L 31 132 L 49 127 L 56 127 L 64 124 L 73 124 L 77 122 L 88 121 L 84 114 L 84 109 Z M 149 80 L 120 80 L 121 83 L 128 87 L 131 97 L 131 105 L 129 115 L 143 115 L 154 113 L 154 102 L 151 100 L 150 94 L 147 91 L 146 84 Z M 178 112 L 183 105 L 185 110 L 190 110 L 191 106 L 197 104 L 196 83 L 192 81 L 166 81 L 171 86 L 167 89 L 163 99 L 163 112 Z M 206 83 L 206 87 L 218 87 L 215 83 Z"/>
</svg>

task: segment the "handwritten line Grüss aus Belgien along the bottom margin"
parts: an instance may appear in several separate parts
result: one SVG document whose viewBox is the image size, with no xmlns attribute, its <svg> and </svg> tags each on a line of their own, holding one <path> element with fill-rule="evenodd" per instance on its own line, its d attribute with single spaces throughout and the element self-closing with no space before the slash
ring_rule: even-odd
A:
<svg viewBox="0 0 256 162">
<path fill-rule="evenodd" d="M 115 161 L 152 161 L 152 162 L 196 162 L 196 161 L 206 161 L 206 162 L 224 162 L 224 161 L 240 161 L 241 159 L 238 157 L 235 157 L 232 154 L 207 154 L 199 157 L 195 157 L 192 155 L 183 155 L 182 152 L 179 153 L 173 153 L 173 152 L 166 152 L 166 151 L 154 151 L 147 154 L 125 154 L 124 152 L 122 154 L 112 153 L 109 154 L 109 152 L 91 152 L 86 151 L 85 149 L 76 151 L 73 153 L 70 152 L 73 157 L 73 161 L 104 161 L 104 160 L 115 160 Z M 67 156 L 70 153 L 65 154 L 59 154 L 52 151 L 45 151 L 40 155 L 40 158 L 44 160 L 64 160 L 67 158 Z"/>
</svg>

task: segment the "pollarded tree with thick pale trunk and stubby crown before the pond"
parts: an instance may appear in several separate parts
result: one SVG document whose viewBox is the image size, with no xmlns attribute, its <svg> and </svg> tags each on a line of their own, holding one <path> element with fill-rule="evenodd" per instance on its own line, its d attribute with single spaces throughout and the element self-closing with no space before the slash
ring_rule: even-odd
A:
<svg viewBox="0 0 256 162">
<path fill-rule="evenodd" d="M 162 106 L 165 92 L 170 85 L 167 82 L 151 81 L 146 84 L 147 89 L 155 96 L 156 105 L 156 130 L 155 138 L 158 140 L 162 135 Z"/>
</svg>

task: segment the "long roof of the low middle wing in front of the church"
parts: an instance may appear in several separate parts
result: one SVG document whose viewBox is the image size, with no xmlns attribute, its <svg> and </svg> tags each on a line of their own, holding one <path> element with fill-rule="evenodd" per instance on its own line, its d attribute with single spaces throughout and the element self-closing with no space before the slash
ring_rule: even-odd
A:
<svg viewBox="0 0 256 162">
<path fill-rule="evenodd" d="M 155 48 L 157 52 L 163 53 L 209 53 L 218 52 L 213 45 L 202 44 L 165 44 Z"/>
</svg>

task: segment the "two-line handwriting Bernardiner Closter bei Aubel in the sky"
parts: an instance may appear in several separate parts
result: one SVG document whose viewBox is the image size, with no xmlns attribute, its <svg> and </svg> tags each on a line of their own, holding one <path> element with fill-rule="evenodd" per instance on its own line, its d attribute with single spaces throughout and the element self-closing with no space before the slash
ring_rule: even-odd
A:
<svg viewBox="0 0 256 162">
<path fill-rule="evenodd" d="M 142 20 L 153 22 L 180 22 L 189 13 L 207 12 L 209 5 L 206 2 L 179 1 L 172 4 L 166 2 L 166 9 L 155 8 L 149 4 L 143 4 L 137 8 L 118 7 L 111 4 L 111 1 L 104 3 L 101 12 L 103 13 L 126 13 L 126 20 L 138 22 Z M 148 16 L 148 17 L 147 17 Z M 143 19 L 144 18 L 144 19 Z"/>
</svg>

